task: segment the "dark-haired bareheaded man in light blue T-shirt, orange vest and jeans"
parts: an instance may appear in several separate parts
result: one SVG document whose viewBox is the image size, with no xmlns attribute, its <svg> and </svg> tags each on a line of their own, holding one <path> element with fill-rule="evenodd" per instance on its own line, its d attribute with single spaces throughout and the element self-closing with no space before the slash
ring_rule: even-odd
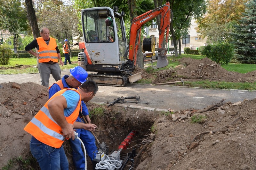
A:
<svg viewBox="0 0 256 170">
<path fill-rule="evenodd" d="M 97 91 L 98 86 L 93 80 L 84 82 L 77 90 L 61 90 L 28 122 L 24 130 L 32 135 L 30 151 L 41 169 L 68 170 L 68 159 L 62 144 L 66 138 L 75 139 L 73 128 L 90 131 L 97 128 L 95 124 L 76 122 L 81 101 L 90 101 Z"/>
</svg>

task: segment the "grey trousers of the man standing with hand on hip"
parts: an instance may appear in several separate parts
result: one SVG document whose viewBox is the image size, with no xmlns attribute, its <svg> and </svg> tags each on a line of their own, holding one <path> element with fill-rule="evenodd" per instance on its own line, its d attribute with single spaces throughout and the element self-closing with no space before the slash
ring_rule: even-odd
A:
<svg viewBox="0 0 256 170">
<path fill-rule="evenodd" d="M 38 70 L 40 73 L 41 85 L 43 86 L 49 87 L 49 79 L 51 74 L 52 74 L 52 77 L 55 79 L 55 81 L 58 81 L 61 79 L 60 77 L 61 69 L 60 69 L 59 63 L 55 63 L 55 64 L 39 63 Z"/>
</svg>

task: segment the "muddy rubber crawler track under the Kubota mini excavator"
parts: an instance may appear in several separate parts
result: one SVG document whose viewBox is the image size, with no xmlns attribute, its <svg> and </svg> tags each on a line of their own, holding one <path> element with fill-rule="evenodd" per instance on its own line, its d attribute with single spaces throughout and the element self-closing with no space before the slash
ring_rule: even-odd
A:
<svg viewBox="0 0 256 170">
<path fill-rule="evenodd" d="M 122 75 L 88 74 L 88 80 L 93 80 L 97 85 L 124 87 L 127 78 Z"/>
</svg>

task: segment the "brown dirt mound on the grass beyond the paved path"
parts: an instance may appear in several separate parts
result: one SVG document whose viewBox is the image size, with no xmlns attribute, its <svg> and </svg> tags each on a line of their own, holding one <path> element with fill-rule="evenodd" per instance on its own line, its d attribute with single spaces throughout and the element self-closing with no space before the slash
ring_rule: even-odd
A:
<svg viewBox="0 0 256 170">
<path fill-rule="evenodd" d="M 159 71 L 152 83 L 180 81 L 180 78 L 184 81 L 209 80 L 251 83 L 256 81 L 256 71 L 246 74 L 227 71 L 207 57 L 201 60 L 183 57 L 179 62 L 181 64 L 174 70 Z"/>
</svg>

